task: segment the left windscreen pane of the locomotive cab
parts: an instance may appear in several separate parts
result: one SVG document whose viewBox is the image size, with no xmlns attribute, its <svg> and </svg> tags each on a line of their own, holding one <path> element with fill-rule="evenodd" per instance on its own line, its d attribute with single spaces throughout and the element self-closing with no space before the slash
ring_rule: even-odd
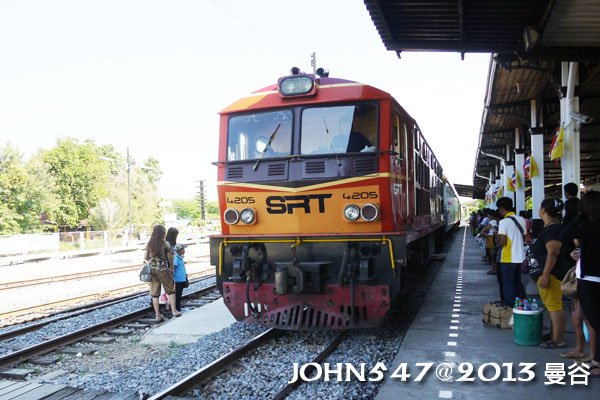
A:
<svg viewBox="0 0 600 400">
<path fill-rule="evenodd" d="M 283 157 L 291 153 L 292 111 L 234 116 L 227 129 L 227 161 Z"/>
</svg>

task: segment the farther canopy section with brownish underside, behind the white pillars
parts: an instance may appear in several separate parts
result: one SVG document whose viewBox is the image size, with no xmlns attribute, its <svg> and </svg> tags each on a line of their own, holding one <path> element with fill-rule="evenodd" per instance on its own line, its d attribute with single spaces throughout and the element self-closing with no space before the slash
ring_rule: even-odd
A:
<svg viewBox="0 0 600 400">
<path fill-rule="evenodd" d="M 480 176 L 494 175 L 499 161 L 486 154 L 514 160 L 515 147 L 530 149 L 532 132 L 544 134 L 544 160 L 536 160 L 538 168 L 543 165 L 544 182 L 547 194 L 556 187 L 560 195 L 562 183 L 561 164 L 548 157 L 552 138 L 560 124 L 560 97 L 564 93 L 561 86 L 561 63 L 554 61 L 530 62 L 512 61 L 500 66 L 491 60 L 486 93 L 486 107 L 483 110 L 479 146 L 475 157 L 473 173 L 474 197 L 483 198 L 488 181 Z M 580 173 L 583 181 L 596 179 L 600 175 L 600 63 L 579 63 L 579 110 L 592 118 L 591 123 L 580 127 Z M 543 126 L 531 128 L 531 99 L 543 119 Z M 515 128 L 521 131 L 518 146 L 515 143 Z M 516 166 L 521 168 L 522 166 Z M 596 183 L 595 181 L 592 183 Z M 527 185 L 526 185 L 527 186 Z"/>
</svg>

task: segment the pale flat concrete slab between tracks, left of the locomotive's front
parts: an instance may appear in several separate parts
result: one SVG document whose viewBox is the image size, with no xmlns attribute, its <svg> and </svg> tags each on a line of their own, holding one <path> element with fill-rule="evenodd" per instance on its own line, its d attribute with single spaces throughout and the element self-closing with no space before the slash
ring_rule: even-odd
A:
<svg viewBox="0 0 600 400">
<path fill-rule="evenodd" d="M 193 343 L 203 336 L 218 332 L 235 322 L 223 299 L 217 299 L 210 304 L 185 311 L 178 318 L 171 318 L 151 329 L 141 340 L 142 344 L 156 345 Z"/>
</svg>

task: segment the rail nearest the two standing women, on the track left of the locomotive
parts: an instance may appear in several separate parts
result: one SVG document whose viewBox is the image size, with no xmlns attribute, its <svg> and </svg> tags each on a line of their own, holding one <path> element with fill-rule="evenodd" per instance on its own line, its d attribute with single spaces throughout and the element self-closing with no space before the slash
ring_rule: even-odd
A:
<svg viewBox="0 0 600 400">
<path fill-rule="evenodd" d="M 195 298 L 207 296 L 211 292 L 216 289 L 215 285 L 210 285 L 208 287 L 187 293 L 184 295 L 184 298 Z M 44 342 L 40 342 L 38 344 L 31 345 L 21 350 L 13 351 L 12 353 L 5 354 L 0 356 L 0 369 L 7 368 L 11 365 L 21 363 L 24 361 L 31 360 L 34 357 L 40 356 L 42 354 L 49 353 L 51 351 L 57 350 L 59 348 L 71 345 L 73 343 L 84 340 L 90 336 L 97 335 L 101 332 L 107 331 L 112 328 L 116 328 L 118 326 L 136 321 L 140 318 L 147 317 L 148 315 L 153 315 L 154 311 L 152 307 L 144 307 L 133 312 L 127 313 L 125 315 L 121 315 L 119 317 L 104 321 L 99 324 L 91 325 L 86 328 L 79 329 L 78 331 L 71 332 L 65 335 L 62 335 L 57 338 L 49 339 Z"/>
</svg>

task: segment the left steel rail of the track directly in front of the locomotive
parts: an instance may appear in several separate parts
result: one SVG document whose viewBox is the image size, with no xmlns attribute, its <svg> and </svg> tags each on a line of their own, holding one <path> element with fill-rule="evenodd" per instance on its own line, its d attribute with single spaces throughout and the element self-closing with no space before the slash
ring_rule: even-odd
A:
<svg viewBox="0 0 600 400">
<path fill-rule="evenodd" d="M 260 335 L 249 340 L 242 346 L 216 359 L 212 363 L 205 365 L 198 371 L 191 373 L 190 375 L 186 376 L 185 378 L 183 378 L 176 384 L 168 387 L 167 389 L 163 390 L 162 392 L 157 393 L 152 397 L 149 397 L 147 400 L 160 400 L 165 399 L 169 396 L 177 396 L 179 394 L 182 394 L 191 387 L 200 385 L 201 383 L 206 382 L 212 377 L 218 375 L 225 368 L 238 361 L 246 353 L 257 349 L 263 343 L 280 337 L 284 333 L 285 331 L 283 330 L 270 328 L 261 333 Z"/>
</svg>

